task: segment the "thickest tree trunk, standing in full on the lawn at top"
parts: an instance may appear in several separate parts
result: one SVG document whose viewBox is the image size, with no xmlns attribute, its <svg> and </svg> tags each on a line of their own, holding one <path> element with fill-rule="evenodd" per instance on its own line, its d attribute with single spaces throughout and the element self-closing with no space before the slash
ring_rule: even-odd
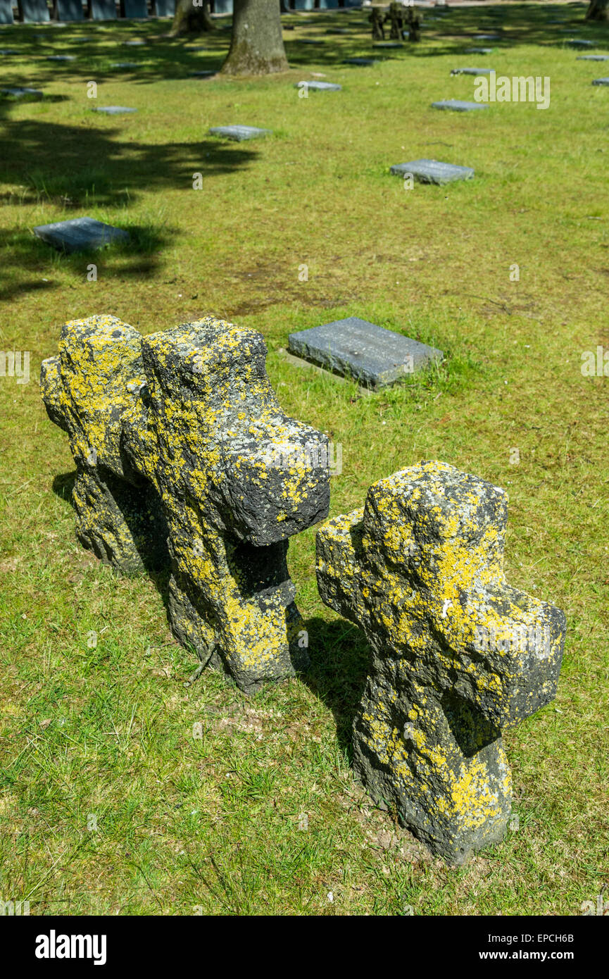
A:
<svg viewBox="0 0 609 979">
<path fill-rule="evenodd" d="M 234 0 L 230 51 L 224 74 L 270 74 L 289 68 L 279 0 Z"/>
</svg>

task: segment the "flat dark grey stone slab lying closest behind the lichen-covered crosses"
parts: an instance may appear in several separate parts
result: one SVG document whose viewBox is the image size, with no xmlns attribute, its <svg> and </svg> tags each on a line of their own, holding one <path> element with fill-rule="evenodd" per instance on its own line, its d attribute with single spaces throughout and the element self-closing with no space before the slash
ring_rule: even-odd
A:
<svg viewBox="0 0 609 979">
<path fill-rule="evenodd" d="M 304 360 L 353 377 L 369 388 L 394 384 L 400 377 L 443 357 L 442 350 L 355 316 L 291 333 L 288 346 L 291 353 Z"/>
</svg>

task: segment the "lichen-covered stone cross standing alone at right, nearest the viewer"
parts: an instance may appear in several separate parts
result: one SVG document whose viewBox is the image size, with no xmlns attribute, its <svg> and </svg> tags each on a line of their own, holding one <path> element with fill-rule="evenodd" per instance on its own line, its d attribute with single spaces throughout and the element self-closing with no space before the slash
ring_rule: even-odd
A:
<svg viewBox="0 0 609 979">
<path fill-rule="evenodd" d="M 503 489 L 423 462 L 317 533 L 322 600 L 373 652 L 355 773 L 451 864 L 502 838 L 501 730 L 553 699 L 562 660 L 563 613 L 505 582 L 506 524 Z"/>
</svg>

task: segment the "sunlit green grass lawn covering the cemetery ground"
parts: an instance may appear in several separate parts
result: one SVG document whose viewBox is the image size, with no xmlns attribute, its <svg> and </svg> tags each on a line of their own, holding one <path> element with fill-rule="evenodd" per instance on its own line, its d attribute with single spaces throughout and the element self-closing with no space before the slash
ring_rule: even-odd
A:
<svg viewBox="0 0 609 979">
<path fill-rule="evenodd" d="M 0 378 L 5 900 L 35 914 L 578 914 L 609 882 L 609 382 L 580 371 L 584 350 L 609 348 L 609 91 L 590 84 L 603 65 L 577 61 L 570 35 L 547 25 L 557 9 L 452 11 L 372 68 L 341 64 L 371 51 L 360 12 L 295 16 L 294 69 L 256 80 L 188 77 L 221 64 L 223 31 L 204 52 L 154 22 L 2 31 L 23 52 L 5 59 L 3 83 L 45 92 L 0 103 L 0 347 L 29 350 L 32 378 Z M 560 10 L 574 36 L 609 50 L 584 4 Z M 550 108 L 432 110 L 473 98 L 474 79 L 449 71 L 476 66 L 463 49 L 501 21 L 509 43 L 480 61 L 549 75 Z M 294 43 L 328 24 L 359 26 Z M 120 48 L 135 34 L 149 47 Z M 52 51 L 78 61 L 40 57 Z M 142 70 L 111 69 L 122 60 Z M 310 72 L 343 91 L 299 99 Z M 91 113 L 89 80 L 96 104 L 138 113 Z M 233 121 L 274 136 L 208 136 Z M 476 177 L 406 191 L 389 166 L 419 157 Z M 132 247 L 61 256 L 31 235 L 81 213 L 127 228 Z M 119 579 L 76 544 L 70 452 L 36 376 L 66 320 L 101 312 L 144 333 L 209 313 L 256 327 L 284 408 L 343 445 L 332 515 L 424 458 L 508 489 L 508 582 L 562 608 L 569 632 L 555 702 L 505 737 L 519 828 L 500 845 L 448 869 L 354 782 L 367 647 L 319 599 L 314 529 L 289 555 L 310 673 L 250 701 L 211 672 L 186 689 L 196 663 L 171 640 L 154 583 Z M 289 332 L 347 315 L 440 347 L 445 365 L 362 396 L 287 361 Z"/>
</svg>

